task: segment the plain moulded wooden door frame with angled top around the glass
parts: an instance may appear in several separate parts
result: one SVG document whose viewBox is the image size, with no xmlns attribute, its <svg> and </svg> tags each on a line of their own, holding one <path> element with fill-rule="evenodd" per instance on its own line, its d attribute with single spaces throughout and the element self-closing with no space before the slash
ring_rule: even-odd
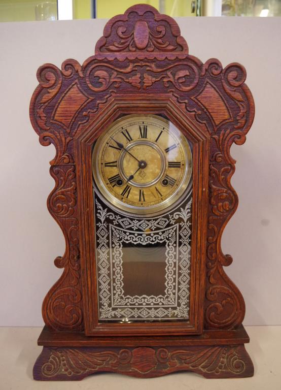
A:
<svg viewBox="0 0 281 390">
<path fill-rule="evenodd" d="M 95 258 L 94 204 L 92 188 L 92 146 L 109 125 L 124 114 L 164 114 L 193 144 L 193 204 L 190 273 L 190 311 L 188 321 L 108 323 L 98 320 Z M 174 104 L 170 94 L 118 95 L 83 128 L 75 141 L 78 168 L 78 208 L 81 221 L 81 269 L 85 333 L 106 335 L 181 335 L 200 334 L 203 329 L 205 281 L 205 241 L 207 215 L 208 138 L 198 124 Z M 81 170 L 81 172 L 80 172 Z"/>
</svg>

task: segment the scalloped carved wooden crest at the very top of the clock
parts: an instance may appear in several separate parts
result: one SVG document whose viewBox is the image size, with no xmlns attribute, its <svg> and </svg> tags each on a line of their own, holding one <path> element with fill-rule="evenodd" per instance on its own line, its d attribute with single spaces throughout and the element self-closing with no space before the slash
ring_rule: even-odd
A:
<svg viewBox="0 0 281 390">
<path fill-rule="evenodd" d="M 139 4 L 109 20 L 95 47 L 97 56 L 168 58 L 188 54 L 178 24 L 151 6 Z"/>
</svg>

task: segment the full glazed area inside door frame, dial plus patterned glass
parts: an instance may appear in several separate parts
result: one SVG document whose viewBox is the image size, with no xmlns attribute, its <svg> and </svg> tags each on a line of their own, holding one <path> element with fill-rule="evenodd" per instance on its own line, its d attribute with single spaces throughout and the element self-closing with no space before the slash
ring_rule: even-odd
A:
<svg viewBox="0 0 281 390">
<path fill-rule="evenodd" d="M 92 170 L 99 322 L 187 321 L 192 144 L 166 118 L 125 115 Z"/>
</svg>

